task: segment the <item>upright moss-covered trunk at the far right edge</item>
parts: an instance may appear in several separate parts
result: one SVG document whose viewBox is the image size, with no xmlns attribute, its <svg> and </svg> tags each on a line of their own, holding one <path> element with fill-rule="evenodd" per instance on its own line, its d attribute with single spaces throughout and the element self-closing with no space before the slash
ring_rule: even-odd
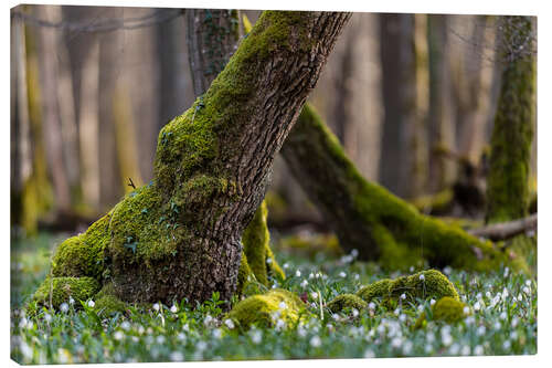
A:
<svg viewBox="0 0 552 368">
<path fill-rule="evenodd" d="M 487 222 L 527 215 L 535 112 L 535 61 L 531 17 L 502 19 L 505 44 L 500 95 L 487 178 Z"/>
</svg>

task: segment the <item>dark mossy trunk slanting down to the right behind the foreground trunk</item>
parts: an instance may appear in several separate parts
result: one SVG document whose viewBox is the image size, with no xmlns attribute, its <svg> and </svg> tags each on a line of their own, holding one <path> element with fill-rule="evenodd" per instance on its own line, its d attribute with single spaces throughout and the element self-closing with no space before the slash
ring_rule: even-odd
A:
<svg viewBox="0 0 552 368">
<path fill-rule="evenodd" d="M 506 262 L 489 242 L 423 215 L 384 188 L 362 178 L 338 139 L 312 108 L 304 107 L 282 153 L 346 251 L 391 269 L 452 265 L 487 270 Z M 320 185 L 323 183 L 323 185 Z"/>
</svg>

